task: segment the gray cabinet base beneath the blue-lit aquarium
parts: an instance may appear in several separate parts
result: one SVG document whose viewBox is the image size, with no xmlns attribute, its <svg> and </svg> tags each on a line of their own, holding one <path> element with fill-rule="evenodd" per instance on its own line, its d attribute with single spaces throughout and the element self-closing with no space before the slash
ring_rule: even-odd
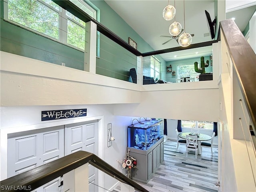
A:
<svg viewBox="0 0 256 192">
<path fill-rule="evenodd" d="M 130 155 L 137 160 L 137 167 L 132 169 L 133 180 L 147 183 L 164 160 L 164 138 L 161 138 L 148 150 L 130 148 Z"/>
</svg>

